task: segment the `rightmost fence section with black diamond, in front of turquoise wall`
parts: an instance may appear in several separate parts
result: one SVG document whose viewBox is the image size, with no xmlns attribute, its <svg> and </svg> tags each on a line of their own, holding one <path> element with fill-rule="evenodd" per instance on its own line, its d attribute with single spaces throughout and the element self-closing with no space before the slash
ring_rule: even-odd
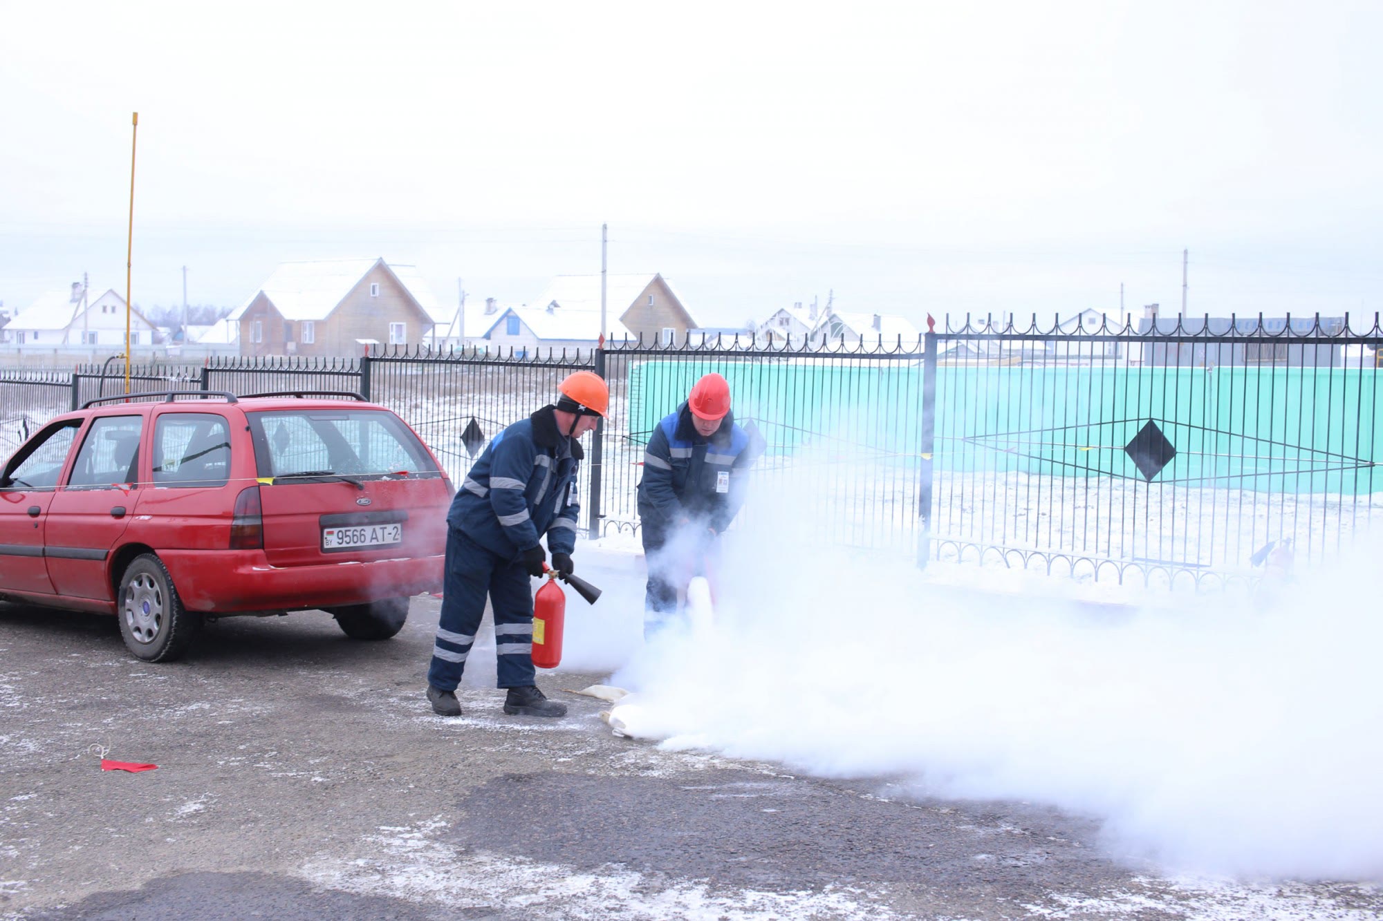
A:
<svg viewBox="0 0 1383 921">
<path fill-rule="evenodd" d="M 1335 553 L 1383 509 L 1380 343 L 1377 317 L 932 332 L 920 552 L 1163 585 Z"/>
</svg>

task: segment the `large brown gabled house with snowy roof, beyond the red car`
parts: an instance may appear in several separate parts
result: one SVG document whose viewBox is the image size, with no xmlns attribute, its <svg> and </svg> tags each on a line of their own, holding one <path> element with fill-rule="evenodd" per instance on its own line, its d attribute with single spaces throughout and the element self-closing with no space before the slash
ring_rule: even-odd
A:
<svg viewBox="0 0 1383 921">
<path fill-rule="evenodd" d="M 431 346 L 444 308 L 414 266 L 383 259 L 281 263 L 228 317 L 242 355 L 354 355 Z"/>
</svg>

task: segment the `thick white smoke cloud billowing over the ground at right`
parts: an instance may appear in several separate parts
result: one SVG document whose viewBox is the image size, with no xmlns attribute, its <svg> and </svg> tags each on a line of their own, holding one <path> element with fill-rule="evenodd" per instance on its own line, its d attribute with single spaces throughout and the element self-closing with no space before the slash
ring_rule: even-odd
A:
<svg viewBox="0 0 1383 921">
<path fill-rule="evenodd" d="M 621 714 L 638 736 L 1043 801 L 1178 870 L 1383 873 L 1383 620 L 1364 577 L 1379 548 L 1271 610 L 1206 596 L 1119 615 L 942 592 L 911 560 L 794 537 L 810 532 L 726 537 L 715 626 L 611 679 L 636 690 Z"/>
</svg>

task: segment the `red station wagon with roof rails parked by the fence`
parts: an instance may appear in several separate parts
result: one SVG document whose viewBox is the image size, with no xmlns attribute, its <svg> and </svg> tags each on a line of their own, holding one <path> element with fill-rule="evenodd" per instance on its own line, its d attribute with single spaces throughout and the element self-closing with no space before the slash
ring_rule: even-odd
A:
<svg viewBox="0 0 1383 921">
<path fill-rule="evenodd" d="M 358 394 L 94 400 L 0 473 L 0 599 L 116 614 L 148 661 L 235 614 L 322 608 L 389 639 L 411 595 L 441 590 L 452 492 Z"/>
</svg>

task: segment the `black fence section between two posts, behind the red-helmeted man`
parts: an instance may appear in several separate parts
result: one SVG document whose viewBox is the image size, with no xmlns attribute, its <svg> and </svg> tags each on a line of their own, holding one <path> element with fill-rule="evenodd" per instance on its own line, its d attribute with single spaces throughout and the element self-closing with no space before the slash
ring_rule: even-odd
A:
<svg viewBox="0 0 1383 921">
<path fill-rule="evenodd" d="M 766 444 L 743 519 L 801 519 L 823 541 L 913 548 L 918 535 L 921 343 L 831 348 L 721 343 L 597 353 L 610 382 L 602 531 L 638 527 L 636 488 L 654 427 L 709 372 L 730 383 L 734 418 Z"/>
</svg>

